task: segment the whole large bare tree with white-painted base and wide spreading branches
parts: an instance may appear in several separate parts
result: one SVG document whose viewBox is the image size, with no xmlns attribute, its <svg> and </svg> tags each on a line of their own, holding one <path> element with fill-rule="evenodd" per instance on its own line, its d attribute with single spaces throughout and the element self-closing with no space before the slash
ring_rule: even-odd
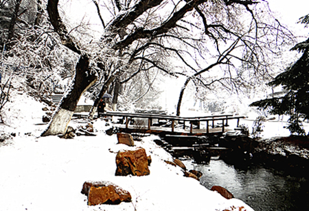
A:
<svg viewBox="0 0 309 211">
<path fill-rule="evenodd" d="M 264 50 L 276 53 L 277 45 L 289 41 L 284 38 L 289 34 L 277 22 L 261 21 L 262 15 L 268 14 L 259 14 L 260 5 L 265 3 L 253 0 L 93 2 L 98 15 L 111 15 L 106 20 L 100 15 L 104 32 L 99 40 L 89 42 L 87 38 L 83 41 L 76 30 L 69 32 L 59 15 L 58 0 L 48 1 L 49 20 L 62 45 L 80 55 L 80 60 L 76 78 L 43 136 L 65 132 L 80 95 L 94 84 L 98 73 L 103 73 L 104 82 L 89 117 L 115 78 L 134 75 L 140 71 L 138 64 L 167 75 L 185 75 L 185 86 L 192 79 L 209 86 L 222 79 L 204 82 L 200 76 L 216 66 L 227 66 L 225 71 L 233 79 L 237 73 L 230 71 L 236 66 L 234 60 L 251 64 L 257 75 L 263 75 L 267 72 Z M 216 54 L 209 53 L 212 49 Z M 180 62 L 181 69 L 165 64 L 165 58 Z"/>
</svg>

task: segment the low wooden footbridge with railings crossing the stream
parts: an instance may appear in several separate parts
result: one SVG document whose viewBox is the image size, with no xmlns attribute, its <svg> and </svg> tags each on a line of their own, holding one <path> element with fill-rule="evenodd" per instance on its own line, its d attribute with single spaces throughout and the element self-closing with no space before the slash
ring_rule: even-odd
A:
<svg viewBox="0 0 309 211">
<path fill-rule="evenodd" d="M 105 112 L 100 114 L 102 116 L 119 116 L 124 119 L 124 129 L 126 131 L 132 132 L 144 132 L 144 133 L 160 133 L 160 132 L 168 132 L 170 134 L 210 134 L 210 133 L 223 133 L 226 131 L 226 127 L 228 126 L 228 121 L 231 119 L 237 120 L 237 127 L 239 126 L 240 119 L 244 119 L 245 116 L 233 116 L 233 114 L 220 114 L 220 115 L 210 115 L 210 116 L 195 116 L 195 117 L 181 117 L 181 116 L 171 116 L 165 114 L 145 114 L 145 113 L 124 113 L 124 112 Z M 133 127 L 129 126 L 130 121 L 133 119 L 147 119 L 148 124 L 146 127 L 141 127 L 141 125 L 133 125 Z M 153 125 L 153 120 L 157 119 L 158 123 L 161 120 L 170 121 L 171 126 L 169 127 L 157 127 Z M 181 131 L 175 131 L 176 123 L 183 123 L 183 128 Z M 187 131 L 185 129 L 185 123 L 190 123 L 190 130 Z M 206 128 L 201 129 L 201 122 L 206 123 Z M 211 123 L 211 128 L 209 128 L 209 123 Z M 220 123 L 220 127 L 216 128 L 215 123 Z M 196 125 L 197 128 L 194 129 L 193 125 Z M 120 126 L 120 125 L 119 125 Z M 144 125 L 143 125 L 144 126 Z M 123 128 L 123 126 L 120 126 Z"/>
</svg>

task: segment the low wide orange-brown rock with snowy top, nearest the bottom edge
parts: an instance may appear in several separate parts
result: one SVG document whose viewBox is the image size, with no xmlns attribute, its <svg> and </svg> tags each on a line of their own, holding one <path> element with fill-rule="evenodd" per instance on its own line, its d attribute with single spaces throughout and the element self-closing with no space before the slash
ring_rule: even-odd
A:
<svg viewBox="0 0 309 211">
<path fill-rule="evenodd" d="M 84 182 L 82 194 L 87 195 L 88 205 L 119 204 L 122 201 L 130 202 L 132 197 L 128 191 L 111 182 Z"/>
</svg>

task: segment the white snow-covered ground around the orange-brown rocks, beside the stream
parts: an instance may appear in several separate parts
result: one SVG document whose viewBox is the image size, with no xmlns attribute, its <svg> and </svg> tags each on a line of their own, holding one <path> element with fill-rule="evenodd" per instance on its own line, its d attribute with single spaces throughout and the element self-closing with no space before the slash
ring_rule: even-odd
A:
<svg viewBox="0 0 309 211">
<path fill-rule="evenodd" d="M 196 179 L 183 177 L 179 166 L 166 164 L 170 154 L 155 145 L 156 136 L 148 136 L 136 147 L 152 157 L 150 175 L 115 176 L 115 156 L 121 149 L 117 137 L 104 134 L 104 121 L 95 121 L 97 136 L 39 137 L 46 125 L 41 123 L 44 105 L 25 94 L 12 93 L 5 107 L 8 126 L 0 132 L 16 133 L 0 145 L 0 210 L 252 210 L 238 199 L 225 199 L 208 190 Z M 76 127 L 81 123 L 71 121 Z M 128 190 L 131 203 L 117 206 L 87 206 L 82 184 L 88 180 L 109 181 Z M 239 210 L 239 209 L 238 209 Z"/>
</svg>

